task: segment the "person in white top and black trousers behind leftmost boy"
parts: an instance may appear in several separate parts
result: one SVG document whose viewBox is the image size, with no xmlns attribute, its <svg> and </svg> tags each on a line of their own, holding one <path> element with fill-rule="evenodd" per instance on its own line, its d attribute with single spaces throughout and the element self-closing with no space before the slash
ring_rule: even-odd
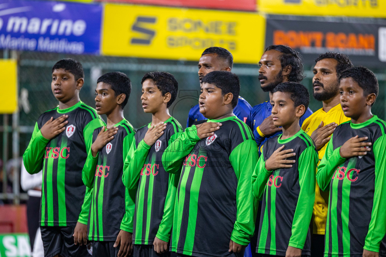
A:
<svg viewBox="0 0 386 257">
<path fill-rule="evenodd" d="M 21 164 L 20 184 L 29 196 L 27 201 L 27 223 L 32 257 L 43 257 L 43 241 L 39 228 L 39 207 L 42 196 L 42 171 L 30 175 Z"/>
</svg>

